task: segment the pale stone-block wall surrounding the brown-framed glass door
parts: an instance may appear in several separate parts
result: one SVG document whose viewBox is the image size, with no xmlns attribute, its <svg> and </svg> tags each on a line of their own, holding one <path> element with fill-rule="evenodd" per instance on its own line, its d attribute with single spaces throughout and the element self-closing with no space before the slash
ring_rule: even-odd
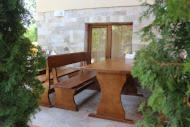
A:
<svg viewBox="0 0 190 127">
<path fill-rule="evenodd" d="M 136 51 L 141 43 L 138 31 L 148 25 L 153 17 L 139 22 L 144 6 L 112 7 L 64 11 L 64 16 L 52 12 L 38 13 L 38 42 L 57 54 L 84 51 L 85 24 L 106 22 L 133 22 L 132 50 Z"/>
</svg>

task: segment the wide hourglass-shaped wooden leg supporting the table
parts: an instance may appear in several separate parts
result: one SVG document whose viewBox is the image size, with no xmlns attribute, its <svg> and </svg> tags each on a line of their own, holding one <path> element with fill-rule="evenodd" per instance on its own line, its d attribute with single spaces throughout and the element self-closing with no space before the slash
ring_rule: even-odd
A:
<svg viewBox="0 0 190 127">
<path fill-rule="evenodd" d="M 126 81 L 126 74 L 98 72 L 101 97 L 96 114 L 89 116 L 110 119 L 133 124 L 133 120 L 125 119 L 125 111 L 121 103 L 121 91 Z"/>
</svg>

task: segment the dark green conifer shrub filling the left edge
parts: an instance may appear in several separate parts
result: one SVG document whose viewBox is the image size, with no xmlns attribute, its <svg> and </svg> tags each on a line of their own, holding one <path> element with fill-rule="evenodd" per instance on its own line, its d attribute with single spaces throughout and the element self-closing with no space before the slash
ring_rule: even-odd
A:
<svg viewBox="0 0 190 127">
<path fill-rule="evenodd" d="M 40 52 L 23 36 L 29 13 L 22 0 L 0 0 L 0 126 L 26 127 L 43 91 L 35 79 Z"/>
</svg>

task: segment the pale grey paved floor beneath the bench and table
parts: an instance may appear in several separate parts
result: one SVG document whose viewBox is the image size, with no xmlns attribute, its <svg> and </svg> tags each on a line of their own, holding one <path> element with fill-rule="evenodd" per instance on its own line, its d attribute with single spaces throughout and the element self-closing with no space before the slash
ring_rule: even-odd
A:
<svg viewBox="0 0 190 127">
<path fill-rule="evenodd" d="M 96 111 L 99 102 L 99 93 L 96 91 L 85 90 L 77 95 L 75 100 L 79 105 L 79 112 L 40 107 L 41 111 L 32 118 L 32 124 L 37 127 L 135 127 L 126 123 L 88 117 L 89 113 Z M 142 100 L 140 97 L 122 95 L 126 117 L 137 119 L 137 107 Z"/>
</svg>

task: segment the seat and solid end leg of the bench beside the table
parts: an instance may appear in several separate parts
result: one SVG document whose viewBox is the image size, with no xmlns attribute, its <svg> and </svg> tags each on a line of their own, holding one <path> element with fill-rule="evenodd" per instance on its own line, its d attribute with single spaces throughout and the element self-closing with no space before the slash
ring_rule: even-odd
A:
<svg viewBox="0 0 190 127">
<path fill-rule="evenodd" d="M 56 93 L 55 107 L 78 111 L 74 95 L 90 86 L 95 80 L 95 72 L 81 71 L 78 75 L 66 81 L 56 83 L 54 85 Z"/>
</svg>

